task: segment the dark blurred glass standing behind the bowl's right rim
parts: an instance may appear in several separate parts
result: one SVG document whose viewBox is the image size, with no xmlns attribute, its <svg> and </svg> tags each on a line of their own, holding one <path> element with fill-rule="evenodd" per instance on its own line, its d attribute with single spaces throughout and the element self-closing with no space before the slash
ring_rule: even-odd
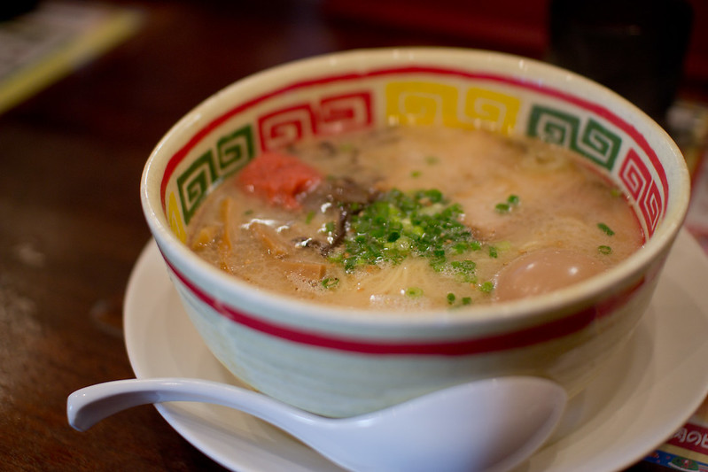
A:
<svg viewBox="0 0 708 472">
<path fill-rule="evenodd" d="M 683 0 L 552 0 L 549 61 L 613 89 L 665 126 L 692 19 Z"/>
</svg>

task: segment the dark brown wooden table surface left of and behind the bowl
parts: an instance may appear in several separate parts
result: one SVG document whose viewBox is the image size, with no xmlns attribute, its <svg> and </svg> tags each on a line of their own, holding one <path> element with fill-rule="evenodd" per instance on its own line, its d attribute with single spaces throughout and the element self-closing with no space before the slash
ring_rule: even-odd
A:
<svg viewBox="0 0 708 472">
<path fill-rule="evenodd" d="M 375 46 L 479 46 L 362 27 L 316 2 L 128 5 L 143 15 L 135 35 L 0 116 L 4 470 L 221 469 L 152 406 L 85 433 L 66 422 L 69 393 L 134 376 L 121 316 L 128 275 L 150 237 L 138 182 L 176 120 L 230 82 L 296 58 Z"/>
</svg>

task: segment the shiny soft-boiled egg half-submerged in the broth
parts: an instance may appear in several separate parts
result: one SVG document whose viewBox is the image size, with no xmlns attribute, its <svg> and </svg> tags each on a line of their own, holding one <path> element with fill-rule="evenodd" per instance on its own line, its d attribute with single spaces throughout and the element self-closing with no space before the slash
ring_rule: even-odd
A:
<svg viewBox="0 0 708 472">
<path fill-rule="evenodd" d="M 544 248 L 527 252 L 503 267 L 494 293 L 500 301 L 540 295 L 583 281 L 604 268 L 602 262 L 579 251 Z"/>
</svg>

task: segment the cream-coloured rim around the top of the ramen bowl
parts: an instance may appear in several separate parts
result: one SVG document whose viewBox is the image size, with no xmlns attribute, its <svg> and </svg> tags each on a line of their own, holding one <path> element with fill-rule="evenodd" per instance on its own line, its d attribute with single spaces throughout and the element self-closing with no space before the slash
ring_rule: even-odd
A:
<svg viewBox="0 0 708 472">
<path fill-rule="evenodd" d="M 226 274 L 217 267 L 212 266 L 198 257 L 186 244 L 183 244 L 169 228 L 167 217 L 164 215 L 161 204 L 160 185 L 164 170 L 159 159 L 167 160 L 172 155 L 169 148 L 179 141 L 179 135 L 198 127 L 199 123 L 210 116 L 208 111 L 218 109 L 219 102 L 227 96 L 235 95 L 242 90 L 253 88 L 268 89 L 268 84 L 297 81 L 304 77 L 306 71 L 317 68 L 329 67 L 333 71 L 338 67 L 342 70 L 366 70 L 372 65 L 392 66 L 395 63 L 408 63 L 410 61 L 425 61 L 437 66 L 452 66 L 462 59 L 484 63 L 486 67 L 497 74 L 504 71 L 518 74 L 518 77 L 533 81 L 540 86 L 561 89 L 572 96 L 580 96 L 581 92 L 592 92 L 598 97 L 601 104 L 619 105 L 614 111 L 619 118 L 631 118 L 631 126 L 638 124 L 650 130 L 650 136 L 645 138 L 654 143 L 652 148 L 657 148 L 658 143 L 665 147 L 665 152 L 673 155 L 676 162 L 675 179 L 680 185 L 671 193 L 667 203 L 664 220 L 657 226 L 656 232 L 639 251 L 635 251 L 629 258 L 619 265 L 611 267 L 600 275 L 586 281 L 573 284 L 561 290 L 554 290 L 547 294 L 532 298 L 523 298 L 506 302 L 494 302 L 479 306 L 468 306 L 462 309 L 421 310 L 414 316 L 409 313 L 392 310 L 372 308 L 351 308 L 321 304 L 302 300 L 292 296 L 282 295 L 275 291 L 256 287 L 248 282 L 241 281 L 233 275 Z M 455 63 L 455 61 L 457 61 Z M 481 66 L 478 66 L 478 68 Z M 502 71 L 500 71 L 500 68 Z M 282 79 L 286 77 L 288 79 Z M 580 90 L 569 91 L 568 85 Z M 582 95 L 588 97 L 587 94 Z M 214 118 L 214 115 L 211 115 Z M 181 146 L 182 144 L 180 144 Z M 167 150 L 167 151 L 166 151 Z M 163 157 L 164 156 L 164 157 Z M 147 159 L 141 177 L 140 194 L 144 217 L 152 231 L 163 258 L 173 272 L 183 273 L 189 271 L 189 280 L 208 289 L 216 298 L 238 298 L 239 310 L 256 317 L 266 318 L 290 326 L 303 326 L 303 322 L 310 327 L 347 325 L 373 328 L 395 328 L 401 325 L 416 328 L 440 328 L 460 326 L 466 324 L 496 326 L 509 321 L 535 324 L 546 318 L 562 317 L 564 307 L 585 304 L 591 306 L 593 300 L 600 298 L 603 293 L 610 292 L 612 287 L 622 286 L 626 281 L 636 279 L 641 274 L 643 267 L 667 251 L 677 236 L 683 223 L 689 204 L 689 172 L 685 163 L 681 166 L 683 158 L 678 146 L 672 138 L 646 113 L 634 104 L 620 97 L 611 89 L 590 81 L 589 79 L 574 74 L 557 66 L 542 61 L 516 56 L 491 50 L 473 50 L 447 47 L 408 47 L 408 48 L 375 48 L 361 50 L 345 50 L 323 54 L 312 58 L 302 58 L 279 66 L 270 67 L 261 72 L 246 76 L 227 87 L 217 91 L 211 97 L 196 105 L 178 120 L 167 133 L 159 140 Z M 155 174 L 159 174 L 159 179 Z M 645 235 L 646 238 L 646 235 Z M 226 294 L 230 294 L 228 297 Z M 577 310 L 570 310 L 575 313 Z M 287 313 L 281 316 L 280 313 Z M 560 313 L 560 314 L 559 314 Z"/>
</svg>

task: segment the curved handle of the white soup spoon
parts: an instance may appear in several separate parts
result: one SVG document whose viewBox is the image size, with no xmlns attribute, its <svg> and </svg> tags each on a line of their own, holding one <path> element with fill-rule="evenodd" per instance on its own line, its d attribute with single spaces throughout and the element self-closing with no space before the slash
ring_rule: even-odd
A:
<svg viewBox="0 0 708 472">
<path fill-rule="evenodd" d="M 166 401 L 197 401 L 237 408 L 280 428 L 310 422 L 314 415 L 260 393 L 198 379 L 129 379 L 97 383 L 74 391 L 66 400 L 69 424 L 85 431 L 101 420 L 133 406 Z"/>
</svg>

